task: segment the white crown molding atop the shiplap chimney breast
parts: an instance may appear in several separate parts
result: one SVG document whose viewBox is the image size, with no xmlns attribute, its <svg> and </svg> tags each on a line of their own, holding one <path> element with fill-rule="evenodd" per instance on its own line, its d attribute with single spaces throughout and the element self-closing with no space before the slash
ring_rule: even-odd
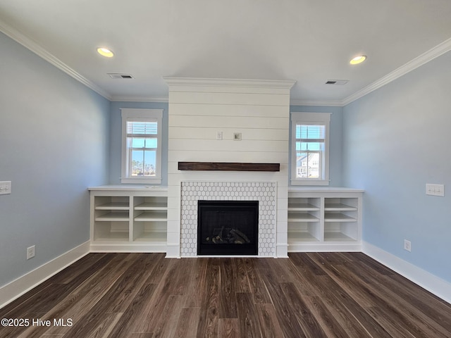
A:
<svg viewBox="0 0 451 338">
<path fill-rule="evenodd" d="M 258 87 L 291 89 L 295 80 L 215 79 L 206 77 L 163 77 L 168 86 Z"/>
</svg>

